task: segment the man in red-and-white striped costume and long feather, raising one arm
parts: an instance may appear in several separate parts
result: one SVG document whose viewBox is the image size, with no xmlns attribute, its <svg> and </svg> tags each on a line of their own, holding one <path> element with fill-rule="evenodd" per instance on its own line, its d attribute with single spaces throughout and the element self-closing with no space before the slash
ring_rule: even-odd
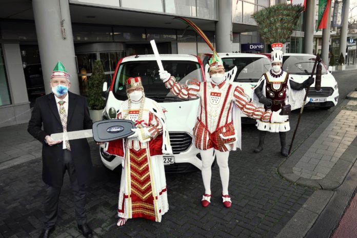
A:
<svg viewBox="0 0 357 238">
<path fill-rule="evenodd" d="M 229 151 L 235 150 L 236 147 L 241 148 L 240 113 L 243 112 L 247 116 L 263 122 L 270 120 L 283 122 L 288 116 L 276 116 L 270 110 L 266 111 L 263 107 L 256 107 L 250 103 L 250 97 L 245 94 L 243 88 L 233 86 L 227 80 L 227 78 L 234 78 L 236 68 L 224 74 L 223 62 L 204 33 L 188 19 L 182 17 L 180 19 L 195 29 L 213 51 L 209 61 L 209 78 L 206 82 L 193 81 L 187 85 L 181 85 L 167 71 L 159 71 L 160 78 L 171 93 L 177 97 L 200 97 L 200 106 L 193 128 L 193 143 L 200 150 L 202 158 L 205 193 L 201 204 L 203 207 L 210 204 L 211 165 L 214 160 L 212 155 L 215 153 L 217 164 L 220 167 L 223 205 L 229 208 L 231 199 L 228 194 L 228 156 Z"/>
</svg>

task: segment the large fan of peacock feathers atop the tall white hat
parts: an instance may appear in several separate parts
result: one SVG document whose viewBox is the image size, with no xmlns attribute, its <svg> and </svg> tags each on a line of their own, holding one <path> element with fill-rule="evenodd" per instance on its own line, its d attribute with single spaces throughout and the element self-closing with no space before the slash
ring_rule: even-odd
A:
<svg viewBox="0 0 357 238">
<path fill-rule="evenodd" d="M 255 12 L 252 16 L 266 43 L 286 43 L 304 8 L 299 5 L 276 4 Z"/>
</svg>

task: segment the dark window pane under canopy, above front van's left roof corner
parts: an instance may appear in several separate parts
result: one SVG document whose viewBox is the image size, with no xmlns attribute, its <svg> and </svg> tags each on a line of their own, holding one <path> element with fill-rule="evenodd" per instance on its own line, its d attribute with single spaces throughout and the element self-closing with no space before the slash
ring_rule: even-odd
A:
<svg viewBox="0 0 357 238">
<path fill-rule="evenodd" d="M 135 27 L 114 27 L 114 41 L 141 42 L 146 41 L 144 28 Z"/>
</svg>

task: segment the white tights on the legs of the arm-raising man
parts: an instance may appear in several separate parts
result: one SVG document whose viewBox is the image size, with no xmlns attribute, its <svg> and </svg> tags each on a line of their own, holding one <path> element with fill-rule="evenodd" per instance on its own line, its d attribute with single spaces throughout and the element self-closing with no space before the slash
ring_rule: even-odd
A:
<svg viewBox="0 0 357 238">
<path fill-rule="evenodd" d="M 224 195 L 228 194 L 228 183 L 229 183 L 229 168 L 228 168 L 228 156 L 229 151 L 221 152 L 213 148 L 208 150 L 200 150 L 202 158 L 202 178 L 203 185 L 205 186 L 205 193 L 211 194 L 211 166 L 214 161 L 213 150 L 215 151 L 217 164 L 220 167 L 220 175 L 222 182 L 222 193 Z"/>
</svg>

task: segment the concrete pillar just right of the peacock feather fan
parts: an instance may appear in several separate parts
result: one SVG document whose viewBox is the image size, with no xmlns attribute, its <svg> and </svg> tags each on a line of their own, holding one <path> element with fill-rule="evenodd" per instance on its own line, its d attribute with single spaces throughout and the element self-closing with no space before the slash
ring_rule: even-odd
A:
<svg viewBox="0 0 357 238">
<path fill-rule="evenodd" d="M 306 0 L 304 53 L 312 54 L 313 33 L 315 32 L 315 0 Z"/>
</svg>

